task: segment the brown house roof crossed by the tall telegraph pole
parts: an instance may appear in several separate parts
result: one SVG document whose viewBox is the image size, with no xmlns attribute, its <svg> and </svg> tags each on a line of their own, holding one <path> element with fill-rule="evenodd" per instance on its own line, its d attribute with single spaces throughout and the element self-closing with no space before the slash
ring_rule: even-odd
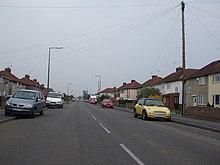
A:
<svg viewBox="0 0 220 165">
<path fill-rule="evenodd" d="M 185 70 L 185 78 L 187 79 L 190 77 L 192 74 L 196 73 L 198 69 L 186 69 Z M 176 72 L 169 74 L 163 80 L 161 83 L 168 83 L 168 82 L 173 82 L 173 81 L 182 81 L 183 78 L 183 70 L 182 68 L 177 68 Z"/>
</svg>

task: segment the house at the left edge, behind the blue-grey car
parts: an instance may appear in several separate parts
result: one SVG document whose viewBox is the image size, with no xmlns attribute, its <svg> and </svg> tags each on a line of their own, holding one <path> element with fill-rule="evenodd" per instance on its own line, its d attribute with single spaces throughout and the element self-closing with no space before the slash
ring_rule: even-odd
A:
<svg viewBox="0 0 220 165">
<path fill-rule="evenodd" d="M 11 68 L 0 71 L 0 96 L 12 95 L 16 90 L 25 88 L 25 83 L 12 74 Z"/>
</svg>

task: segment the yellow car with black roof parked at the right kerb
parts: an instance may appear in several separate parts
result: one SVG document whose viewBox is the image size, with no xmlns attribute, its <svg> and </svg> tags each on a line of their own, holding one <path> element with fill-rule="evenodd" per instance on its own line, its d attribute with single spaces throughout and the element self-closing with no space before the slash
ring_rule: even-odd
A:
<svg viewBox="0 0 220 165">
<path fill-rule="evenodd" d="M 149 118 L 163 118 L 167 121 L 170 120 L 170 110 L 164 107 L 161 100 L 141 98 L 138 100 L 133 110 L 133 116 L 141 116 L 143 120 Z"/>
</svg>

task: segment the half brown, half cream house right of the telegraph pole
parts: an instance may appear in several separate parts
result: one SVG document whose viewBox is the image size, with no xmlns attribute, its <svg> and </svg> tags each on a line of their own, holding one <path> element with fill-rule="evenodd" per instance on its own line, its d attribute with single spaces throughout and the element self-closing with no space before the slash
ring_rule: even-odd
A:
<svg viewBox="0 0 220 165">
<path fill-rule="evenodd" d="M 208 104 L 220 108 L 220 60 L 199 69 L 185 84 L 186 107 Z"/>
</svg>

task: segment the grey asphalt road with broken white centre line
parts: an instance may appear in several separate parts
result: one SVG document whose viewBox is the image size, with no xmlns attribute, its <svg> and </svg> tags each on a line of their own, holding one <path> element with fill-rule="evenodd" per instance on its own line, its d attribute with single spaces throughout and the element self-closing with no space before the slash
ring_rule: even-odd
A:
<svg viewBox="0 0 220 165">
<path fill-rule="evenodd" d="M 219 133 L 88 103 L 0 124 L 4 165 L 218 165 L 219 155 Z"/>
</svg>

